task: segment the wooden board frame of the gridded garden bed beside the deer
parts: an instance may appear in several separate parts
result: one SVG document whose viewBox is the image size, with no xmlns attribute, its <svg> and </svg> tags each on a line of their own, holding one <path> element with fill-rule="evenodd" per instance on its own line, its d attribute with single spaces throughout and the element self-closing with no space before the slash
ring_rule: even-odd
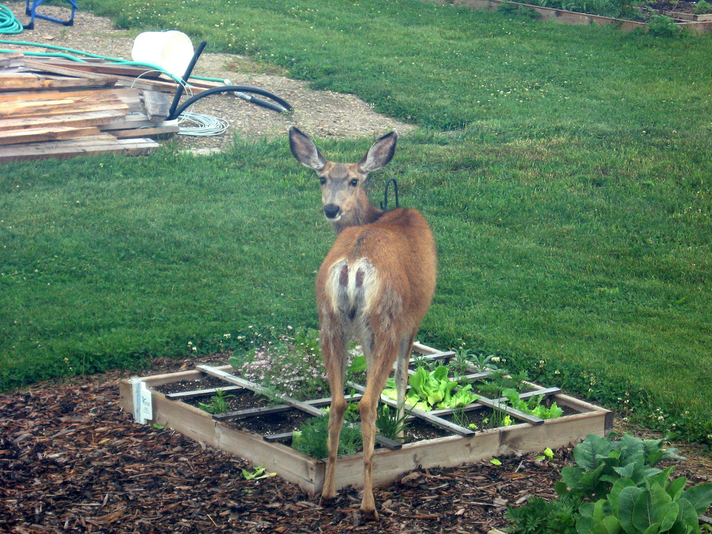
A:
<svg viewBox="0 0 712 534">
<path fill-rule="evenodd" d="M 425 357 L 444 358 L 451 357 L 453 354 L 418 344 L 414 349 Z M 173 394 L 174 399 L 171 399 L 166 394 L 153 389 L 172 382 L 201 379 L 206 375 L 223 375 L 230 370 L 229 365 L 223 367 L 199 365 L 196 370 L 192 371 L 124 379 L 119 384 L 120 406 L 127 412 L 135 414 L 135 417 L 141 422 L 160 424 L 166 428 L 174 429 L 190 439 L 239 456 L 255 466 L 263 466 L 266 471 L 275 472 L 285 480 L 297 483 L 309 493 L 319 493 L 324 482 L 325 461 L 310 458 L 279 443 L 278 440 L 283 436 L 265 437 L 236 429 L 221 421 L 224 417 L 213 416 L 197 407 L 181 402 L 179 397 L 184 396 L 182 394 Z M 233 377 L 229 379 L 229 382 L 232 384 L 226 382 L 226 387 L 260 388 L 258 384 L 252 384 L 239 377 Z M 455 467 L 496 456 L 543 451 L 547 447 L 555 449 L 581 441 L 588 434 L 605 436 L 612 430 L 613 414 L 609 410 L 570 397 L 559 392 L 558 389 L 545 389 L 536 384 L 531 384 L 531 386 L 535 391 L 530 394 L 549 394 L 560 407 L 568 407 L 578 413 L 547 421 L 528 416 L 530 422 L 485 431 L 471 431 L 458 427 L 459 434 L 416 441 L 402 446 L 382 439 L 380 442 L 386 446 L 375 451 L 374 483 L 377 486 L 387 485 L 402 473 L 416 468 Z M 140 397 L 141 391 L 144 396 L 143 401 L 136 399 L 136 397 Z M 382 399 L 384 402 L 388 402 L 384 397 Z M 147 406 L 147 402 L 150 403 L 149 406 Z M 283 402 L 287 406 L 295 406 L 303 411 L 316 414 L 319 412 L 316 407 L 327 404 L 328 399 L 298 402 L 285 398 Z M 490 399 L 478 401 L 479 404 L 487 407 L 491 406 L 492 402 Z M 478 407 L 481 406 L 468 406 L 469 409 Z M 277 409 L 289 408 L 277 407 Z M 516 412 L 511 408 L 506 411 L 519 420 L 523 419 L 521 412 Z M 419 412 L 417 417 L 421 417 L 423 413 Z M 437 416 L 441 413 L 442 411 L 436 412 L 434 415 L 432 412 L 426 413 L 422 419 L 439 419 Z M 440 419 L 440 421 L 444 422 L 445 426 L 457 426 L 444 419 Z M 444 426 L 432 421 L 431 424 Z M 457 431 L 457 429 L 451 429 L 451 431 L 453 430 Z M 363 458 L 361 454 L 339 459 L 336 469 L 339 488 L 362 486 Z"/>
</svg>

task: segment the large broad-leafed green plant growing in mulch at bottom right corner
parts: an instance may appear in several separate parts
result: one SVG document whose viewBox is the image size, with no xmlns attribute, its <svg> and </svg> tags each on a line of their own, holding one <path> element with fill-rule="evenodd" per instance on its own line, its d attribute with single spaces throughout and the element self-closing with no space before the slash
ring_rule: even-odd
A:
<svg viewBox="0 0 712 534">
<path fill-rule="evenodd" d="M 627 434 L 620 441 L 587 436 L 574 449 L 576 465 L 562 469 L 558 498 L 508 509 L 510 534 L 699 533 L 712 484 L 685 489 L 686 478 L 670 481 L 674 466 L 656 465 L 683 458 L 662 444 Z"/>
</svg>

